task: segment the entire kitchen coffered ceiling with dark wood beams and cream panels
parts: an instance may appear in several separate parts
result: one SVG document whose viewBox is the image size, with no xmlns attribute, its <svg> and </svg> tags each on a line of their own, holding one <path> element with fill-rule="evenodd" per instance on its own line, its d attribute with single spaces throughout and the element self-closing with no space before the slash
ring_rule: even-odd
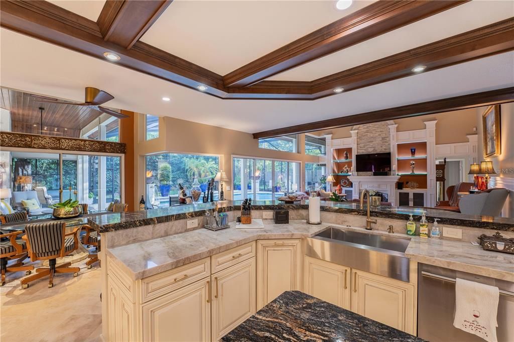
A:
<svg viewBox="0 0 514 342">
<path fill-rule="evenodd" d="M 254 133 L 514 85 L 511 1 L 70 3 L 2 1 L 2 86 Z"/>
</svg>

